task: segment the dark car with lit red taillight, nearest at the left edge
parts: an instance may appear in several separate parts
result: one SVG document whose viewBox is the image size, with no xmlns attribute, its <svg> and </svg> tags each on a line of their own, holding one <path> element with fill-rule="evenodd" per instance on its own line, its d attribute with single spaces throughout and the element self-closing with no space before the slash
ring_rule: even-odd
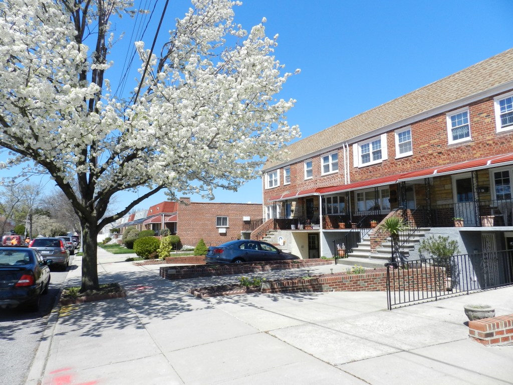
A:
<svg viewBox="0 0 513 385">
<path fill-rule="evenodd" d="M 39 310 L 41 295 L 48 293 L 51 263 L 29 247 L 0 247 L 0 307 Z"/>
</svg>

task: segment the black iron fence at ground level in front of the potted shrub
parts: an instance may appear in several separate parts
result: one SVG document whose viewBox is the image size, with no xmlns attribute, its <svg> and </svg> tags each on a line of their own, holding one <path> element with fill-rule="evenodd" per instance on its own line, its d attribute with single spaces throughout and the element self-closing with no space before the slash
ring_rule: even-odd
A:
<svg viewBox="0 0 513 385">
<path fill-rule="evenodd" d="M 387 263 L 388 309 L 513 283 L 513 251 Z"/>
</svg>

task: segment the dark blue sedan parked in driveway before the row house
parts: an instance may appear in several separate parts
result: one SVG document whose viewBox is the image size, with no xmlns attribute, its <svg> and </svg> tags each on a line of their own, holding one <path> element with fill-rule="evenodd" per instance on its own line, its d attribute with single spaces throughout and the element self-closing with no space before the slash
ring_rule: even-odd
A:
<svg viewBox="0 0 513 385">
<path fill-rule="evenodd" d="M 244 239 L 226 242 L 219 246 L 210 246 L 205 257 L 206 263 L 241 263 L 289 259 L 300 258 L 282 252 L 270 243 Z"/>
</svg>

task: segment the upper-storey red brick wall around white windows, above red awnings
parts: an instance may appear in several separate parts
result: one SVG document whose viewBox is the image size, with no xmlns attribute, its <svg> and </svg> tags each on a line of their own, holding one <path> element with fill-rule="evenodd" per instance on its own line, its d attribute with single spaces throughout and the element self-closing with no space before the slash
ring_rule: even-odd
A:
<svg viewBox="0 0 513 385">
<path fill-rule="evenodd" d="M 472 138 L 469 142 L 448 144 L 446 112 L 450 111 L 445 111 L 410 125 L 413 146 L 412 156 L 395 159 L 394 131 L 396 129 L 387 132 L 388 159 L 382 163 L 362 168 L 353 167 L 352 145 L 349 145 L 350 181 L 365 181 L 400 172 L 421 170 L 513 152 L 513 132 L 496 132 L 493 98 L 480 100 L 468 105 L 468 107 L 470 136 Z M 460 108 L 458 107 L 458 109 Z M 347 139 L 350 140 L 350 138 Z M 304 140 L 308 140 L 308 138 Z M 338 149 L 339 172 L 321 176 L 321 156 L 331 152 L 334 151 L 312 157 L 313 178 L 306 181 L 304 180 L 303 161 L 290 165 L 291 183 L 288 185 L 283 185 L 282 168 L 280 170 L 280 186 L 271 189 L 264 188 L 264 204 L 267 203 L 269 197 L 281 195 L 288 191 L 344 184 L 344 152 L 342 147 Z M 294 153 L 291 153 L 290 157 L 293 158 Z"/>
</svg>

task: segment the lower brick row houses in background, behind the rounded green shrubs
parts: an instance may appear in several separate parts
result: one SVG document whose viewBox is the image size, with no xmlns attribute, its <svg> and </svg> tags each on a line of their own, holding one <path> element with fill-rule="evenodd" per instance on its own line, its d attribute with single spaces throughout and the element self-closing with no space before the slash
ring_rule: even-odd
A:
<svg viewBox="0 0 513 385">
<path fill-rule="evenodd" d="M 195 246 L 200 239 L 217 245 L 232 239 L 249 238 L 251 229 L 262 223 L 262 205 L 252 203 L 164 201 L 130 214 L 112 225 L 122 235 L 128 226 L 151 229 L 160 236 L 163 229 L 180 237 L 182 245 Z M 260 221 L 259 221 L 260 219 Z M 255 224 L 256 223 L 256 224 Z M 119 237 L 121 238 L 121 237 Z"/>
</svg>

